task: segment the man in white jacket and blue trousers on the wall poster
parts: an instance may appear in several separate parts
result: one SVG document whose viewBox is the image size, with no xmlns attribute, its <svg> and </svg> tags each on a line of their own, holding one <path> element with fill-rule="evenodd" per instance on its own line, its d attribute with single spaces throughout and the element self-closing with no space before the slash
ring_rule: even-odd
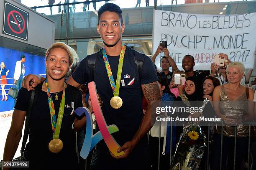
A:
<svg viewBox="0 0 256 170">
<path fill-rule="evenodd" d="M 14 70 L 14 84 L 16 84 L 17 89 L 20 90 L 22 85 L 23 76 L 25 74 L 25 56 L 20 56 L 20 61 L 16 62 L 15 70 Z"/>
</svg>

